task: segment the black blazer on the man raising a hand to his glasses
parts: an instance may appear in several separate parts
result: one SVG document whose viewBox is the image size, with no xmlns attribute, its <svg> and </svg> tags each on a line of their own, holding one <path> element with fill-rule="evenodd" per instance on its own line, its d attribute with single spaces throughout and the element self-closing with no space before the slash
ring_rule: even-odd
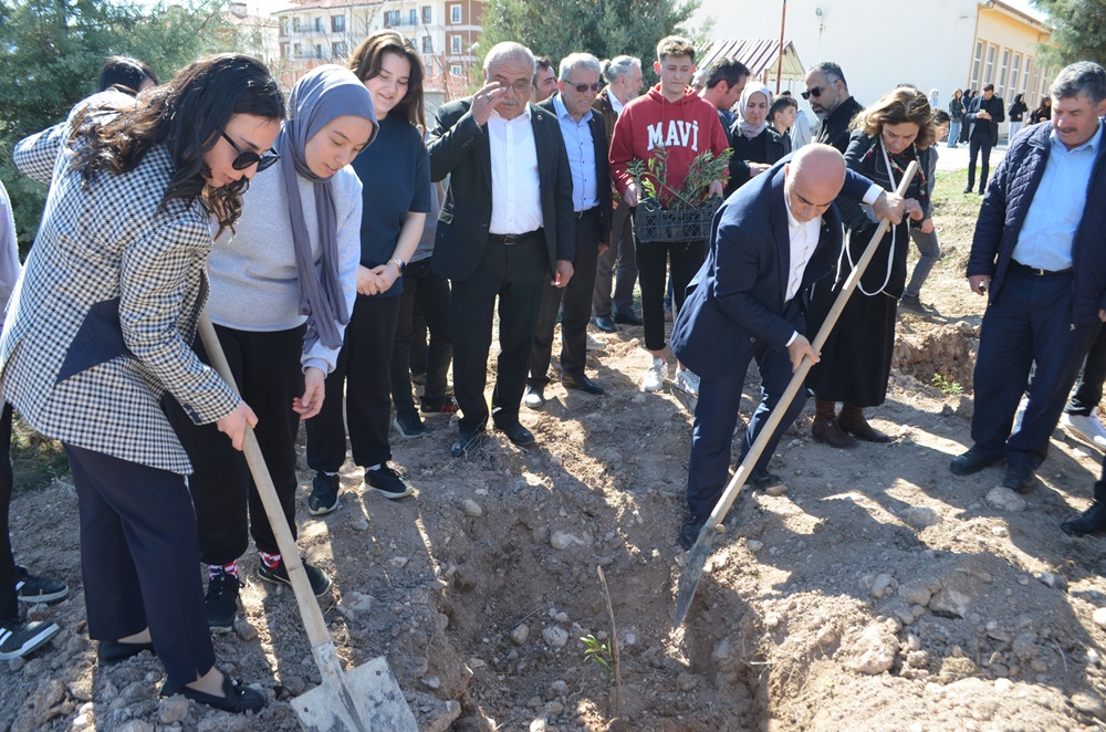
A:
<svg viewBox="0 0 1106 732">
<path fill-rule="evenodd" d="M 430 133 L 430 179 L 449 176 L 446 200 L 438 215 L 431 268 L 451 280 L 471 275 L 488 243 L 491 224 L 491 146 L 488 130 L 469 113 L 472 97 L 438 108 Z M 576 220 L 572 211 L 572 171 L 556 115 L 530 105 L 530 123 L 538 147 L 542 220 L 549 250 L 550 276 L 556 260 L 573 261 Z"/>
</svg>

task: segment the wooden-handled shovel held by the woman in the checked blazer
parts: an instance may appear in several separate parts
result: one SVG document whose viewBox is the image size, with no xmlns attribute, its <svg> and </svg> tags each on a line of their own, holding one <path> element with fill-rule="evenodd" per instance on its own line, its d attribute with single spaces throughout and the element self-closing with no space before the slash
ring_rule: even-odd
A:
<svg viewBox="0 0 1106 732">
<path fill-rule="evenodd" d="M 227 356 L 222 352 L 219 336 L 216 335 L 207 311 L 200 315 L 199 332 L 211 365 L 219 372 L 219 376 L 238 391 L 234 377 L 227 364 Z M 292 700 L 292 707 L 299 714 L 300 722 L 307 730 L 418 732 L 415 715 L 411 714 L 404 693 L 383 656 L 348 671 L 342 670 L 323 613 L 319 609 L 307 575 L 303 572 L 300 552 L 281 510 L 276 489 L 273 488 L 258 438 L 249 426 L 246 428 L 243 451 L 253 481 L 258 485 L 258 493 L 261 494 L 261 502 L 265 506 L 269 523 L 276 535 L 276 545 L 284 558 L 284 566 L 288 567 L 288 576 L 295 593 L 295 602 L 300 606 L 303 627 L 311 641 L 311 652 L 323 677 L 322 684 Z"/>
</svg>

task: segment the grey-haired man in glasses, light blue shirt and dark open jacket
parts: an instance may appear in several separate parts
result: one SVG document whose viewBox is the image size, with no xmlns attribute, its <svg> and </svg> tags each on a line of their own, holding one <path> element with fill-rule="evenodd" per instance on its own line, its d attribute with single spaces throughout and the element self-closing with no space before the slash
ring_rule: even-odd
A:
<svg viewBox="0 0 1106 732">
<path fill-rule="evenodd" d="M 587 359 L 587 321 L 599 249 L 611 232 L 611 168 L 603 117 L 592 112 L 599 92 L 599 60 L 589 53 L 573 53 L 561 60 L 559 92 L 540 107 L 556 115 L 572 170 L 572 205 L 576 217 L 576 259 L 567 286 L 547 285 L 538 315 L 534 347 L 530 354 L 530 380 L 523 404 L 541 409 L 550 383 L 553 330 L 561 311 L 561 385 L 585 394 L 603 394 L 603 387 L 584 375 Z M 563 297 L 562 297 L 563 295 Z M 563 301 L 563 303 L 562 303 Z"/>
</svg>

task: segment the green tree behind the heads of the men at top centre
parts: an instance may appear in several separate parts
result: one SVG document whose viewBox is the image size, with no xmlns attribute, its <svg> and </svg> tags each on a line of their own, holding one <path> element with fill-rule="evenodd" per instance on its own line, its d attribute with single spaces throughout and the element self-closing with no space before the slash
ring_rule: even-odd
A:
<svg viewBox="0 0 1106 732">
<path fill-rule="evenodd" d="M 554 63 L 575 51 L 599 59 L 628 54 L 641 60 L 648 80 L 657 41 L 674 33 L 701 41 L 700 33 L 684 25 L 699 4 L 699 0 L 490 0 L 479 55 L 482 60 L 502 41 L 518 41 Z"/>
</svg>

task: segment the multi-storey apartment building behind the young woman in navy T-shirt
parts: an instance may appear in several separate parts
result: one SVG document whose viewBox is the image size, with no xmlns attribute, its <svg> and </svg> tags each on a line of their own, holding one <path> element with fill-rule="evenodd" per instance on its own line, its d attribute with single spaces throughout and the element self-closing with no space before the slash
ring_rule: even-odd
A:
<svg viewBox="0 0 1106 732">
<path fill-rule="evenodd" d="M 324 63 L 344 64 L 369 33 L 410 39 L 426 69 L 428 104 L 463 96 L 478 59 L 481 0 L 303 0 L 278 10 L 283 81 Z"/>
</svg>

